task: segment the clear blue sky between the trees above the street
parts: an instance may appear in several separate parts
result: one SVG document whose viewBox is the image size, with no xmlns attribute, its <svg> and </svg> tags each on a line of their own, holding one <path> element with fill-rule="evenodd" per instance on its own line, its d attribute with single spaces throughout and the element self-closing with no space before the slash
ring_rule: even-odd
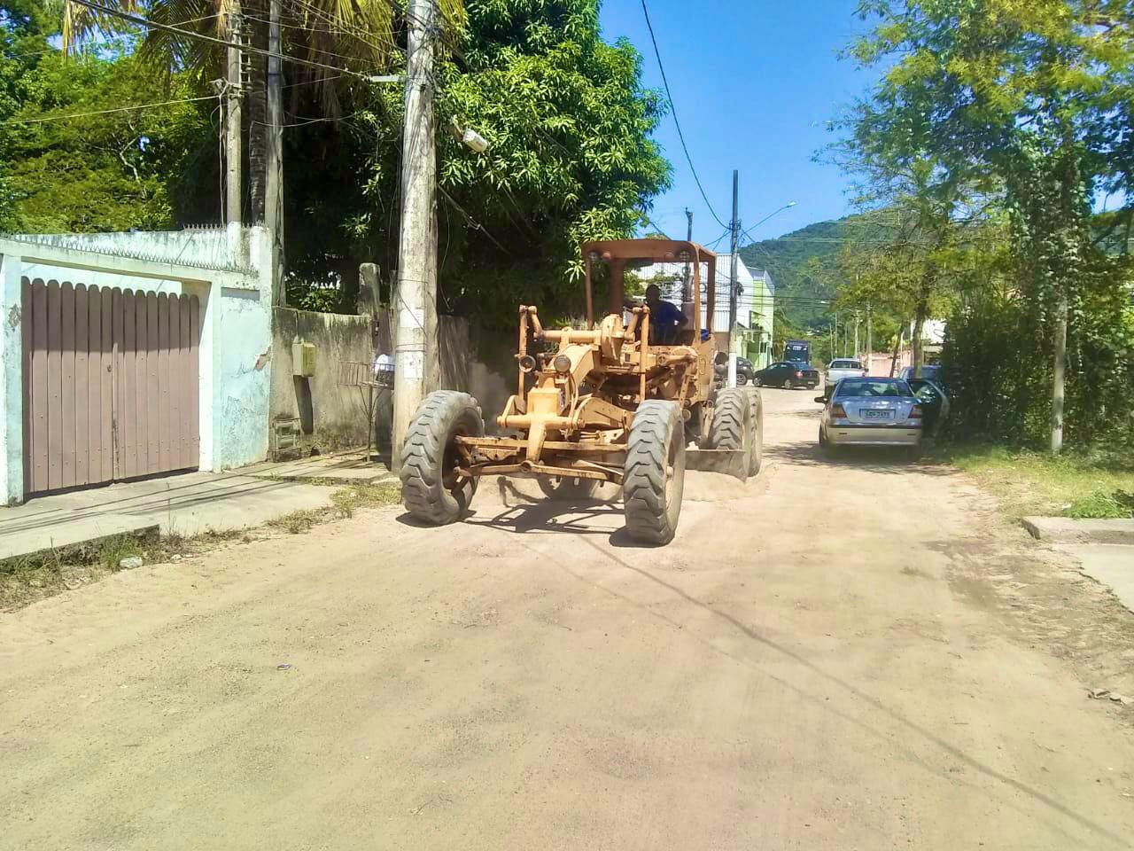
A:
<svg viewBox="0 0 1134 851">
<path fill-rule="evenodd" d="M 741 171 L 745 227 L 797 202 L 760 226 L 758 239 L 850 212 L 846 179 L 811 158 L 831 140 L 826 121 L 874 78 L 836 56 L 864 28 L 853 17 L 857 0 L 646 2 L 685 141 L 720 219 L 727 224 L 731 213 L 734 168 Z M 606 0 L 601 19 L 608 41 L 626 36 L 634 43 L 645 85 L 660 90 L 641 0 Z M 655 200 L 651 219 L 683 238 L 688 207 L 694 239 L 716 239 L 722 228 L 701 200 L 672 116 L 655 136 L 674 163 L 674 185 Z"/>
</svg>

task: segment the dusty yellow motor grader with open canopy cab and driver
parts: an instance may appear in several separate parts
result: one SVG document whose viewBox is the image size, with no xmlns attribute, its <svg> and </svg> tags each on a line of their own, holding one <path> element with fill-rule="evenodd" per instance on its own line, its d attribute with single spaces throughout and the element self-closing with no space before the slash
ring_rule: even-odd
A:
<svg viewBox="0 0 1134 851">
<path fill-rule="evenodd" d="M 586 327 L 544 328 L 535 306 L 521 306 L 516 394 L 497 418 L 502 436 L 484 435 L 481 408 L 466 393 L 437 390 L 417 410 L 400 454 L 403 500 L 415 519 L 458 520 L 484 475 L 533 477 L 552 498 L 586 498 L 613 482 L 629 537 L 667 544 L 687 462 L 741 479 L 760 471 L 759 390 L 716 386 L 716 254 L 669 239 L 582 248 Z M 609 267 L 610 301 L 596 320 L 600 263 Z M 625 300 L 627 269 L 655 263 L 688 269 L 692 278 L 682 295 L 684 321 L 670 319 L 665 329 L 651 328 L 649 303 L 627 307 Z M 689 443 L 699 448 L 687 450 Z"/>
</svg>

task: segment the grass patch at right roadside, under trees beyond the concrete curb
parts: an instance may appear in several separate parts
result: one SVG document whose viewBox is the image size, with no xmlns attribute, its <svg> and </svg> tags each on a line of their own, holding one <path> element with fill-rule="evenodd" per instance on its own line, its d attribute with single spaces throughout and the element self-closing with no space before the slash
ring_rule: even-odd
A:
<svg viewBox="0 0 1134 851">
<path fill-rule="evenodd" d="M 1027 515 L 1134 516 L 1134 462 L 1107 452 L 1052 456 L 996 446 L 953 446 L 946 460 L 1018 520 Z"/>
</svg>

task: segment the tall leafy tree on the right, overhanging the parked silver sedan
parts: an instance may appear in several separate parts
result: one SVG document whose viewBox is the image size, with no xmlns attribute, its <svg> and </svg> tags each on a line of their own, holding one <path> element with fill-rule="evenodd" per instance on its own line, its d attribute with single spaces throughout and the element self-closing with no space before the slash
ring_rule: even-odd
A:
<svg viewBox="0 0 1134 851">
<path fill-rule="evenodd" d="M 1009 217 L 1009 300 L 1024 307 L 1016 337 L 1035 343 L 1022 345 L 1019 356 L 1050 386 L 1056 338 L 1069 312 L 1069 349 L 1100 364 L 1083 360 L 1070 377 L 1070 433 L 1090 439 L 1099 433 L 1091 399 L 1107 391 L 1099 377 L 1122 373 L 1124 356 L 1111 334 L 1122 318 L 1107 305 L 1120 302 L 1128 266 L 1111 262 L 1092 241 L 1090 200 L 1129 188 L 1128 3 L 865 0 L 860 8 L 873 26 L 848 54 L 885 70 L 841 126 L 871 153 L 879 167 L 873 178 L 902 179 L 923 166 L 929 197 L 968 193 Z M 1126 203 L 1118 218 L 1128 221 L 1132 212 Z M 1108 315 L 1089 317 L 1089 304 Z M 1042 396 L 1029 405 L 1034 414 Z"/>
</svg>

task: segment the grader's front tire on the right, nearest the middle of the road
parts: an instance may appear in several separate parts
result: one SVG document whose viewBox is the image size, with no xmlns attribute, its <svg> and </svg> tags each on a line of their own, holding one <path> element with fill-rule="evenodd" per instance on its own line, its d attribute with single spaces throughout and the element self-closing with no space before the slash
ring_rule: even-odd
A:
<svg viewBox="0 0 1134 851">
<path fill-rule="evenodd" d="M 642 544 L 669 544 L 685 489 L 685 424 L 675 402 L 649 399 L 631 423 L 623 473 L 626 532 Z"/>
</svg>

